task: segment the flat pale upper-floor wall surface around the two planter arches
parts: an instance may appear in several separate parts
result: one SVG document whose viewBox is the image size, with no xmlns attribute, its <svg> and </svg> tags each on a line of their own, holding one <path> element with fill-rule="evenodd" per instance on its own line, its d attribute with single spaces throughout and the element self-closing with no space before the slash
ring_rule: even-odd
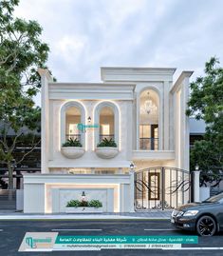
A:
<svg viewBox="0 0 223 256">
<path fill-rule="evenodd" d="M 120 109 L 120 143 L 118 141 L 120 153 L 113 159 L 103 160 L 99 158 L 95 153 L 97 147 L 95 143 L 95 130 L 87 130 L 85 134 L 85 152 L 84 156 L 80 159 L 67 159 L 61 153 L 61 108 L 67 101 L 50 101 L 50 127 L 49 127 L 49 141 L 51 142 L 51 148 L 49 148 L 49 154 L 51 156 L 48 162 L 48 167 L 129 167 L 132 153 L 132 131 L 128 128 L 131 124 L 131 115 L 128 110 L 132 108 L 130 101 L 114 101 L 114 104 Z M 100 101 L 80 101 L 84 106 L 85 116 L 93 117 L 94 111 Z M 94 119 L 92 118 L 94 124 Z M 85 120 L 87 125 L 87 120 Z M 125 130 L 125 132 L 123 132 Z"/>
</svg>

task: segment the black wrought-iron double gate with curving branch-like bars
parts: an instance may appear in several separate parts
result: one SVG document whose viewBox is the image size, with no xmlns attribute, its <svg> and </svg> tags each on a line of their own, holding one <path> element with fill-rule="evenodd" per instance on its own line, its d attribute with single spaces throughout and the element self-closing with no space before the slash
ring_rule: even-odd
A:
<svg viewBox="0 0 223 256">
<path fill-rule="evenodd" d="M 172 209 L 190 202 L 188 170 L 150 167 L 135 173 L 135 209 Z"/>
</svg>

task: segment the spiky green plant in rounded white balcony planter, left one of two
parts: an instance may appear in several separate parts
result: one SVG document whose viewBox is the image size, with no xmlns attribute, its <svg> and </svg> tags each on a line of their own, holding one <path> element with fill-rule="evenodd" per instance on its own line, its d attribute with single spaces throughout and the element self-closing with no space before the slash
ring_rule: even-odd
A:
<svg viewBox="0 0 223 256">
<path fill-rule="evenodd" d="M 84 148 L 78 139 L 68 139 L 61 148 L 63 155 L 67 158 L 79 158 L 84 155 Z"/>
</svg>

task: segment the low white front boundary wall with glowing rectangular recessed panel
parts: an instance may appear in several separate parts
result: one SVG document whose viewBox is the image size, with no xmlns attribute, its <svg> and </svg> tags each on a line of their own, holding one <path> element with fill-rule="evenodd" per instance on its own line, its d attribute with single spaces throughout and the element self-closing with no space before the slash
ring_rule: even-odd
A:
<svg viewBox="0 0 223 256">
<path fill-rule="evenodd" d="M 105 212 L 134 211 L 133 175 L 27 174 L 24 176 L 24 212 L 65 212 L 66 203 L 81 199 L 82 191 L 87 200 L 101 200 Z"/>
</svg>

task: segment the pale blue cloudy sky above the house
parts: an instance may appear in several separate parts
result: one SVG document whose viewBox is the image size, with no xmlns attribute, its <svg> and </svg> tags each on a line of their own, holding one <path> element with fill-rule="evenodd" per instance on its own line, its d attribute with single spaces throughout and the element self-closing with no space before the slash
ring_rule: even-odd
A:
<svg viewBox="0 0 223 256">
<path fill-rule="evenodd" d="M 100 82 L 100 67 L 194 70 L 223 64 L 223 0 L 20 0 L 37 20 L 58 82 Z M 36 99 L 40 105 L 40 97 Z"/>
</svg>

